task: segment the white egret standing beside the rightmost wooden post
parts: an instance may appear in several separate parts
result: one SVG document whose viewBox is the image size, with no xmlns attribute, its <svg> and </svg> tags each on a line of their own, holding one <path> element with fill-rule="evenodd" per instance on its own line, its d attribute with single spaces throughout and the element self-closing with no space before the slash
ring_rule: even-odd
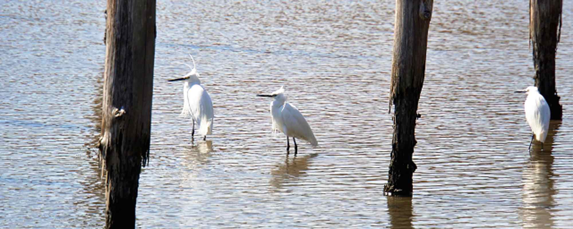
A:
<svg viewBox="0 0 573 229">
<path fill-rule="evenodd" d="M 541 96 L 539 90 L 537 90 L 537 87 L 535 86 L 528 86 L 525 90 L 517 92 L 527 93 L 527 98 L 525 99 L 524 104 L 525 119 L 533 132 L 531 141 L 529 141 L 528 150 L 531 150 L 533 137 L 535 137 L 535 140 L 541 142 L 541 149 L 543 149 L 543 142 L 545 141 L 545 137 L 547 137 L 549 118 L 551 116 L 549 105 L 547 105 L 547 101 L 545 101 L 545 98 Z"/>
</svg>

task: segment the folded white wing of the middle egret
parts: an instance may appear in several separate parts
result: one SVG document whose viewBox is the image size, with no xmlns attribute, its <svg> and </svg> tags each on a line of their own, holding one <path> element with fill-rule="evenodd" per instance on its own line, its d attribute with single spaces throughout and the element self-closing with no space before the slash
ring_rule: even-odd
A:
<svg viewBox="0 0 573 229">
<path fill-rule="evenodd" d="M 312 132 L 311 126 L 308 125 L 303 114 L 300 113 L 296 106 L 285 102 L 281 112 L 282 122 L 286 127 L 286 135 L 294 136 L 298 139 L 303 139 L 311 143 L 311 145 L 318 145 L 315 134 Z"/>
</svg>

